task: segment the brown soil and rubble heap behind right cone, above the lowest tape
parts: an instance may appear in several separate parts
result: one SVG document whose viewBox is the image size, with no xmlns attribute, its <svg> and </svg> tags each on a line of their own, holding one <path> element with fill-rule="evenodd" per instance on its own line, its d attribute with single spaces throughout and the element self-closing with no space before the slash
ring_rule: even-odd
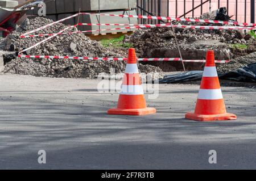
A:
<svg viewBox="0 0 256 181">
<path fill-rule="evenodd" d="M 242 31 L 175 28 L 175 35 L 181 49 L 229 49 L 226 44 L 253 44 L 253 49 L 255 49 L 255 39 L 250 35 L 245 35 Z M 215 43 L 217 42 L 217 46 L 210 40 Z M 169 27 L 139 30 L 132 36 L 126 37 L 125 41 L 127 43 L 133 43 L 137 52 L 142 57 L 147 56 L 144 54 L 147 49 L 177 49 L 174 32 L 172 31 L 172 28 Z M 199 43 L 200 41 L 205 41 L 207 44 L 202 46 Z"/>
</svg>

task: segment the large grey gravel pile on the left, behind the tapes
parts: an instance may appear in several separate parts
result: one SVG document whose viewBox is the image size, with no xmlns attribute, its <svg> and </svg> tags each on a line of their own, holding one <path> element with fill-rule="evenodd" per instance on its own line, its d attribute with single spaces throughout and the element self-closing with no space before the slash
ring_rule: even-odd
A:
<svg viewBox="0 0 256 181">
<path fill-rule="evenodd" d="M 18 37 L 21 33 L 34 30 L 52 20 L 45 18 L 26 19 L 22 25 L 5 40 L 0 43 L 3 50 L 18 50 Z M 64 24 L 55 24 L 38 33 L 56 33 L 66 28 Z M 21 49 L 26 49 L 45 37 L 22 39 Z M 40 44 L 38 47 L 26 52 L 30 55 L 53 55 L 53 56 L 88 56 L 88 57 L 124 57 L 126 55 L 116 53 L 102 47 L 97 41 L 90 40 L 82 33 L 72 35 L 60 35 Z M 14 59 L 5 65 L 5 73 L 16 73 Z M 100 73 L 110 73 L 115 68 L 116 73 L 125 70 L 125 61 L 80 61 L 80 60 L 51 60 L 51 59 L 27 59 L 22 58 L 19 63 L 19 74 L 35 75 L 40 77 L 67 77 L 67 78 L 96 78 Z M 139 65 L 142 72 L 162 72 L 160 68 L 150 65 Z"/>
</svg>

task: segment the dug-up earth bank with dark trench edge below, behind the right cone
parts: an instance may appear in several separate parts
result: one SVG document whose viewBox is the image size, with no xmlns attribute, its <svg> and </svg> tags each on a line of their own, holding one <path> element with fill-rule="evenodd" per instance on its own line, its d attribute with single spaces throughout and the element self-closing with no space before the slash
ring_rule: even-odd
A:
<svg viewBox="0 0 256 181">
<path fill-rule="evenodd" d="M 132 43 L 139 57 L 179 58 L 179 50 L 184 60 L 205 60 L 207 50 L 213 49 L 216 60 L 233 60 L 255 52 L 255 39 L 242 31 L 201 31 L 176 28 L 175 34 L 170 28 L 151 28 L 136 31 L 125 42 Z M 241 46 L 243 45 L 243 46 Z M 163 71 L 181 71 L 181 62 L 143 62 L 158 66 Z M 218 64 L 220 65 L 220 64 Z M 185 62 L 186 70 L 203 70 L 204 64 Z"/>
</svg>

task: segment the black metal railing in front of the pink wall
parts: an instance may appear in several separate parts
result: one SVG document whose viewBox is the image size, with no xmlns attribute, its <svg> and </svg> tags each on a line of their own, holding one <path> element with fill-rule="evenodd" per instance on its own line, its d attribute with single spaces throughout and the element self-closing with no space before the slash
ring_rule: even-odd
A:
<svg viewBox="0 0 256 181">
<path fill-rule="evenodd" d="M 201 14 L 205 13 L 204 10 L 204 6 L 206 5 L 206 3 L 209 3 L 209 11 L 213 10 L 212 9 L 212 1 L 211 0 L 201 0 L 200 5 L 195 6 L 195 0 L 192 0 L 192 9 L 187 8 L 187 2 L 186 0 L 176 0 L 176 1 L 172 1 L 172 4 L 175 3 L 175 6 L 170 6 L 170 1 L 163 1 L 163 0 L 137 0 L 137 14 L 141 14 L 141 15 L 152 15 L 152 16 L 169 16 L 170 15 L 170 11 L 175 11 L 175 15 L 176 17 L 179 16 L 179 18 L 184 17 L 190 13 L 192 13 L 192 18 L 195 18 L 195 10 L 200 9 Z M 230 10 L 230 2 L 229 0 L 226 0 L 226 8 L 229 12 Z M 247 3 L 250 2 L 250 7 L 247 7 Z M 183 3 L 183 14 L 179 15 L 179 9 L 178 6 L 180 6 L 180 4 Z M 218 0 L 217 2 L 217 7 L 220 8 L 220 5 L 222 3 L 223 6 L 223 1 Z M 247 15 L 249 15 L 250 13 L 250 23 L 255 23 L 255 0 L 243 0 L 244 3 L 244 12 L 242 14 L 242 16 L 244 16 L 244 22 L 247 22 Z M 164 4 L 164 6 L 163 6 Z M 179 5 L 178 5 L 179 4 Z M 235 2 L 235 10 L 234 10 L 234 19 L 238 19 L 238 9 L 240 9 L 241 7 L 238 6 L 238 0 L 236 0 Z M 250 11 L 250 12 L 248 12 Z M 164 13 L 163 13 L 164 12 Z M 206 11 L 207 12 L 207 11 Z M 160 20 L 139 20 L 141 24 L 145 24 L 145 23 L 160 23 Z"/>
</svg>

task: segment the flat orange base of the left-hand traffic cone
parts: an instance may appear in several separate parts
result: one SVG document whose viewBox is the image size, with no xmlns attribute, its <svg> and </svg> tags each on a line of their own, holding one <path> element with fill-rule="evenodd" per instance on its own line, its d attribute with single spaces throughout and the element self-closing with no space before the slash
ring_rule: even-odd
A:
<svg viewBox="0 0 256 181">
<path fill-rule="evenodd" d="M 156 113 L 156 109 L 152 107 L 144 109 L 119 109 L 114 108 L 108 110 L 109 115 L 131 115 L 131 116 L 142 116 Z"/>
</svg>

